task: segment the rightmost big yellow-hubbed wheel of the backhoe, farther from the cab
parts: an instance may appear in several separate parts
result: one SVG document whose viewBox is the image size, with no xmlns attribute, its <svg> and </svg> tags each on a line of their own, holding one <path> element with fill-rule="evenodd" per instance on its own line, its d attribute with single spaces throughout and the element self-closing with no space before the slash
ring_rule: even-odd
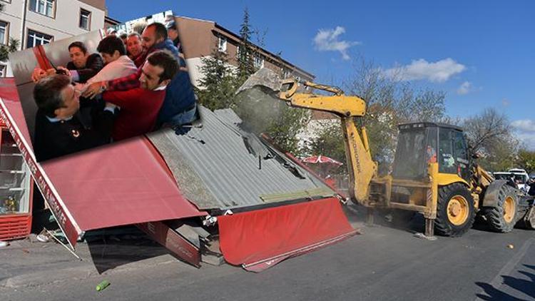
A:
<svg viewBox="0 0 535 301">
<path fill-rule="evenodd" d="M 496 207 L 484 208 L 484 215 L 491 230 L 500 233 L 511 232 L 518 220 L 518 205 L 519 199 L 514 188 L 509 185 L 501 186 Z"/>
</svg>

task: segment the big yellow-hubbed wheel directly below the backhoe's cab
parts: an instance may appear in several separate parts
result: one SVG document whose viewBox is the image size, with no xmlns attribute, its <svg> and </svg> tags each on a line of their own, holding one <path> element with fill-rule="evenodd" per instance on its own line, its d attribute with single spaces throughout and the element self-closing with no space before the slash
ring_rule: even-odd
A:
<svg viewBox="0 0 535 301">
<path fill-rule="evenodd" d="M 461 183 L 453 183 L 439 188 L 437 219 L 434 230 L 439 235 L 461 236 L 475 220 L 474 198 L 468 188 Z"/>
</svg>

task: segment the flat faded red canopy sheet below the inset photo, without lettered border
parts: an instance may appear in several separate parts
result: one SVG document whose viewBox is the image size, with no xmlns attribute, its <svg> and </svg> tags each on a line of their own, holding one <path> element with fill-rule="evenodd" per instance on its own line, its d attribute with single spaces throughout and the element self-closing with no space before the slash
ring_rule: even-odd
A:
<svg viewBox="0 0 535 301">
<path fill-rule="evenodd" d="M 203 215 L 144 136 L 41 165 L 81 230 Z"/>
</svg>

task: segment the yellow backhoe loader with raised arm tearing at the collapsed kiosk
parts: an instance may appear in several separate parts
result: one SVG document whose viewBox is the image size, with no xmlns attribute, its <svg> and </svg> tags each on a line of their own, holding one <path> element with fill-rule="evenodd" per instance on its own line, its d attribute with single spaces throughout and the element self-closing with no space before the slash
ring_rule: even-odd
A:
<svg viewBox="0 0 535 301">
<path fill-rule="evenodd" d="M 258 81 L 253 78 L 245 86 L 255 86 L 255 82 Z M 439 235 L 460 236 L 472 228 L 476 215 L 486 220 L 491 230 L 501 233 L 511 231 L 517 222 L 526 228 L 535 226 L 532 200 L 521 198 L 514 183 L 494 180 L 474 162 L 462 128 L 429 122 L 400 125 L 392 173 L 379 176 L 366 128 L 357 126 L 366 114 L 365 100 L 345 96 L 340 88 L 295 78 L 280 81 L 278 87 L 262 86 L 274 90 L 275 97 L 292 107 L 340 117 L 350 198 L 368 208 L 369 222 L 374 209 L 419 212 L 425 218 L 427 238 L 434 231 Z M 300 86 L 332 95 L 300 93 Z"/>
</svg>

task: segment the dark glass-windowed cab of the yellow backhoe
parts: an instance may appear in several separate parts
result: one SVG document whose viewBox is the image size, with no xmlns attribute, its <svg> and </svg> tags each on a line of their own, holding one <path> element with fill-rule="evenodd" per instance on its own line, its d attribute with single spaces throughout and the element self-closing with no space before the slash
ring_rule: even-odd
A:
<svg viewBox="0 0 535 301">
<path fill-rule="evenodd" d="M 469 180 L 469 154 L 462 129 L 444 123 L 399 125 L 394 178 L 423 180 L 429 163 L 439 163 L 439 173 Z"/>
</svg>

